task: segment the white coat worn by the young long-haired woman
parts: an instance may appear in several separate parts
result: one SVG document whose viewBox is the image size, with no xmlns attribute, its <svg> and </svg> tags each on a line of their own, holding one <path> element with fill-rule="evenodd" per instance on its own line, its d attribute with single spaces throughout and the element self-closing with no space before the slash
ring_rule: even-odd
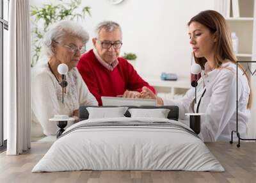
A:
<svg viewBox="0 0 256 183">
<path fill-rule="evenodd" d="M 204 141 L 230 141 L 231 131 L 236 130 L 236 65 L 228 62 L 221 68 L 209 70 L 205 63 L 205 70 L 198 81 L 197 102 L 195 104 L 195 88 L 188 90 L 182 99 L 166 100 L 164 105 L 179 106 L 179 118 L 189 124 L 189 118 L 185 113 L 194 113 L 202 93 L 199 113 L 205 113 L 201 117 L 200 138 Z M 250 88 L 246 76 L 238 69 L 238 128 L 241 138 L 246 138 L 246 123 L 250 116 L 247 109 Z M 236 133 L 234 140 L 237 140 Z"/>
</svg>

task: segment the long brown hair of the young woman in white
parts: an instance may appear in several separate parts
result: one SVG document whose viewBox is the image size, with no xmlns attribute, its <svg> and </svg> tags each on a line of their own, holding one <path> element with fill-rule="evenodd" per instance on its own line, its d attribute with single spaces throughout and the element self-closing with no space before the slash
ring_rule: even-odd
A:
<svg viewBox="0 0 256 183">
<path fill-rule="evenodd" d="M 214 45 L 214 61 L 215 68 L 220 68 L 222 63 L 227 60 L 230 60 L 232 63 L 237 64 L 237 58 L 232 49 L 232 40 L 230 36 L 230 31 L 227 26 L 225 18 L 218 12 L 214 10 L 206 10 L 198 13 L 195 17 L 192 17 L 188 22 L 188 26 L 192 22 L 198 22 L 208 28 L 212 34 L 216 36 L 216 44 Z M 195 54 L 194 54 L 195 57 Z M 196 58 L 196 63 L 198 63 L 203 69 L 207 60 L 202 58 Z M 244 71 L 244 68 L 238 64 L 239 68 Z M 246 74 L 246 73 L 245 73 Z M 250 87 L 250 95 L 247 104 L 247 108 L 252 107 L 252 90 L 250 86 L 250 77 L 246 74 L 248 84 Z"/>
</svg>

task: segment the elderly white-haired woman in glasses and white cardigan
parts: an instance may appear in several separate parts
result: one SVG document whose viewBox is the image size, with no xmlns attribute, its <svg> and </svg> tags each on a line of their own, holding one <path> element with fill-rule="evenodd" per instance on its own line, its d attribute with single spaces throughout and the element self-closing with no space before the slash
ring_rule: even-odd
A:
<svg viewBox="0 0 256 183">
<path fill-rule="evenodd" d="M 45 34 L 43 48 L 46 59 L 38 61 L 31 71 L 32 136 L 42 136 L 42 132 L 47 136 L 55 135 L 58 131 L 56 122 L 49 121 L 54 115 L 78 116 L 79 106 L 98 104 L 76 68 L 87 41 L 88 33 L 70 20 L 52 25 Z M 61 63 L 68 66 L 64 104 L 61 74 L 57 70 Z M 68 122 L 67 126 L 71 124 L 72 122 Z"/>
</svg>

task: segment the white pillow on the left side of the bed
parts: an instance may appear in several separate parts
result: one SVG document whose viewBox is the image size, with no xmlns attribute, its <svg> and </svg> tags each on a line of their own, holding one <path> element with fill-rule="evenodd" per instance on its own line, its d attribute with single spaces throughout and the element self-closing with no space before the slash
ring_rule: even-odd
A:
<svg viewBox="0 0 256 183">
<path fill-rule="evenodd" d="M 125 117 L 124 114 L 128 107 L 86 107 L 89 113 L 89 119 L 95 118 L 120 118 Z"/>
</svg>

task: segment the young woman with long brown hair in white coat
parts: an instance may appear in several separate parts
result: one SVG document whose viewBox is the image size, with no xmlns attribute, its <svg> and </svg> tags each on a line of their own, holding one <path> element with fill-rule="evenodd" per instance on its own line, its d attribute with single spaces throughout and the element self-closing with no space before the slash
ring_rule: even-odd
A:
<svg viewBox="0 0 256 183">
<path fill-rule="evenodd" d="M 189 39 L 195 61 L 201 68 L 196 100 L 201 99 L 200 138 L 204 141 L 230 141 L 236 130 L 236 56 L 232 51 L 230 32 L 220 13 L 207 10 L 198 13 L 189 22 Z M 244 69 L 238 69 L 238 121 L 241 138 L 246 135 L 246 123 L 252 105 L 252 93 Z M 138 95 L 143 99 L 157 99 L 159 105 L 179 106 L 179 118 L 195 113 L 195 88 L 188 90 L 182 99 L 167 100 L 154 95 L 147 87 Z M 188 124 L 188 121 L 187 121 Z M 237 137 L 234 135 L 234 140 Z"/>
</svg>

